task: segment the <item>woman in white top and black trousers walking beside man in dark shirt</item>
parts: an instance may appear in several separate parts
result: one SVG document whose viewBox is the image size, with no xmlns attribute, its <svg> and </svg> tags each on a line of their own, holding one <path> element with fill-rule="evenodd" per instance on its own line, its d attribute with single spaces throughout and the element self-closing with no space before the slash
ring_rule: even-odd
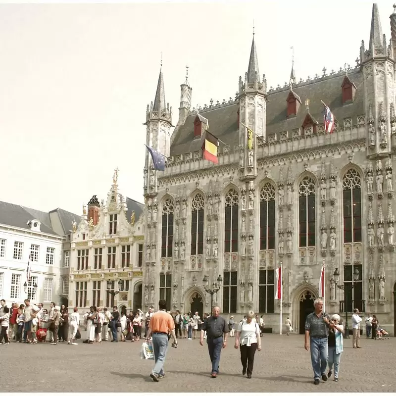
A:
<svg viewBox="0 0 396 396">
<path fill-rule="evenodd" d="M 241 320 L 237 329 L 235 339 L 235 349 L 241 346 L 242 375 L 247 373 L 247 378 L 251 378 L 253 371 L 254 354 L 261 350 L 260 329 L 254 319 L 254 312 L 249 311 L 246 319 Z"/>
</svg>

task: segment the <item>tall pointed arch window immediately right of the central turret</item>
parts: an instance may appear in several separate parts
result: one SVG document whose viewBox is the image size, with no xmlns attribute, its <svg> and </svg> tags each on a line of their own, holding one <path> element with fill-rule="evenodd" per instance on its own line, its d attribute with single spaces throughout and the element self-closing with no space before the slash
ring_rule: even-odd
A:
<svg viewBox="0 0 396 396">
<path fill-rule="evenodd" d="M 265 183 L 260 191 L 260 250 L 275 248 L 275 189 Z"/>
</svg>

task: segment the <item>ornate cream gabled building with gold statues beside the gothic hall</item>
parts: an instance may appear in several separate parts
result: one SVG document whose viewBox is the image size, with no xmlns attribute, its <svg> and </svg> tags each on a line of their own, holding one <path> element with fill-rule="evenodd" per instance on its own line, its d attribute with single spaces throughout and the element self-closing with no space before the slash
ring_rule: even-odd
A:
<svg viewBox="0 0 396 396">
<path fill-rule="evenodd" d="M 105 202 L 99 204 L 94 196 L 88 212 L 84 205 L 81 221 L 64 245 L 62 294 L 69 309 L 142 307 L 144 205 L 119 194 L 117 177 L 118 170 Z"/>
</svg>

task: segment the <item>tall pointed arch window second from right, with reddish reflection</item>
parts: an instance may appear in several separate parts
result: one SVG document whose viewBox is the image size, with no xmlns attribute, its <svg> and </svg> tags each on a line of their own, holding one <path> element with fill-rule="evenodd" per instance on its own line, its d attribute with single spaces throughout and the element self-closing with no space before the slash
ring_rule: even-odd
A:
<svg viewBox="0 0 396 396">
<path fill-rule="evenodd" d="M 305 176 L 298 186 L 299 247 L 316 244 L 316 186 Z"/>
</svg>

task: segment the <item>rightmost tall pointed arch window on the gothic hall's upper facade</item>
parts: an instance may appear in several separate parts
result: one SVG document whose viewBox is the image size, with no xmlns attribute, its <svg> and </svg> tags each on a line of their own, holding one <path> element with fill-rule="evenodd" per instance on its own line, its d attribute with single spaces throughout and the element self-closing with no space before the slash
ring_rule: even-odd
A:
<svg viewBox="0 0 396 396">
<path fill-rule="evenodd" d="M 343 177 L 344 243 L 362 241 L 361 179 L 355 169 Z"/>
</svg>

